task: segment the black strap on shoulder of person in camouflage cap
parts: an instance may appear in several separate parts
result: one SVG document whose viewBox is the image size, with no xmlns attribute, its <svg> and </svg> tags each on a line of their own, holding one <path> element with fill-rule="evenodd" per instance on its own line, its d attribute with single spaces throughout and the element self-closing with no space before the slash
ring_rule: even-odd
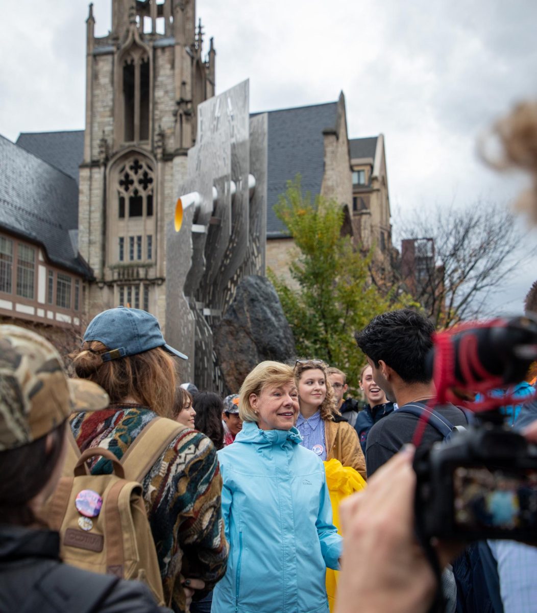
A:
<svg viewBox="0 0 537 613">
<path fill-rule="evenodd" d="M 118 577 L 56 563 L 39 577 L 20 613 L 97 612 L 118 581 Z"/>
</svg>

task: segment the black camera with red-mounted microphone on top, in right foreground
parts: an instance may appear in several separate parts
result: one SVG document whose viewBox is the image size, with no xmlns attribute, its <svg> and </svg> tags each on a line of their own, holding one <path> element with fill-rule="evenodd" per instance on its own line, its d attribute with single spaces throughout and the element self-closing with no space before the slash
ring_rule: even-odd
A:
<svg viewBox="0 0 537 613">
<path fill-rule="evenodd" d="M 537 360 L 537 317 L 460 326 L 434 343 L 437 406 L 462 405 L 476 423 L 416 454 L 419 532 L 426 539 L 537 541 L 537 446 L 503 425 L 499 406 L 513 399 L 489 393 L 520 383 Z M 461 402 L 469 392 L 482 399 Z"/>
</svg>

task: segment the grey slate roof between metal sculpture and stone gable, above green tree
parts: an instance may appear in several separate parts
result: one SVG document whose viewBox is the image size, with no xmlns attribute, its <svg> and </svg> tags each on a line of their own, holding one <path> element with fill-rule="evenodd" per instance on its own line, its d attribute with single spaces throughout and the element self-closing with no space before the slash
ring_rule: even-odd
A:
<svg viewBox="0 0 537 613">
<path fill-rule="evenodd" d="M 302 191 L 319 194 L 325 172 L 323 130 L 336 129 L 337 102 L 268 113 L 267 238 L 288 236 L 274 205 L 288 180 L 301 174 Z"/>
</svg>

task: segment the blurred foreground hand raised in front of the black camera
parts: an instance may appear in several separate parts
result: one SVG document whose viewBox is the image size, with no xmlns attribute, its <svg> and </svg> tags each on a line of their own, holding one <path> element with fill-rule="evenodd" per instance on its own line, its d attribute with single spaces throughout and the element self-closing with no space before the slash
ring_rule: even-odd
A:
<svg viewBox="0 0 537 613">
<path fill-rule="evenodd" d="M 340 506 L 336 613 L 426 613 L 432 604 L 437 582 L 414 536 L 413 457 L 412 447 L 399 452 Z"/>
</svg>

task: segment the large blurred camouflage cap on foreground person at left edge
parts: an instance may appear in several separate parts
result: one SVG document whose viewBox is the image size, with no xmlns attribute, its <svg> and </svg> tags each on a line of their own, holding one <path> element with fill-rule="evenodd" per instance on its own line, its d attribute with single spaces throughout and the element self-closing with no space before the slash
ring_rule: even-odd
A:
<svg viewBox="0 0 537 613">
<path fill-rule="evenodd" d="M 35 332 L 0 326 L 0 451 L 45 436 L 75 411 L 108 406 L 91 381 L 69 379 L 58 351 Z"/>
</svg>

